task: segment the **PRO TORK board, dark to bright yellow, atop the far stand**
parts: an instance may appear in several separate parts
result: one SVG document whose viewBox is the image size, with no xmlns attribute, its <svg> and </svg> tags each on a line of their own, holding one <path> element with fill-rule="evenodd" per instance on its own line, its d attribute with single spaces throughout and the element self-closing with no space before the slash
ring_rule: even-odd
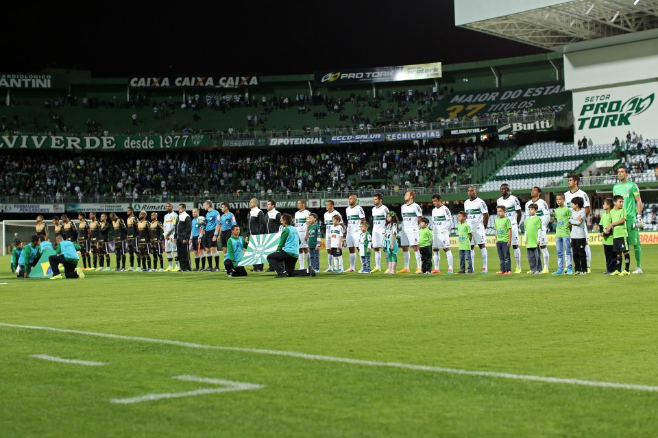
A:
<svg viewBox="0 0 658 438">
<path fill-rule="evenodd" d="M 375 67 L 371 69 L 315 71 L 315 85 L 345 85 L 372 82 L 400 82 L 441 77 L 441 62 L 431 64 Z"/>
</svg>

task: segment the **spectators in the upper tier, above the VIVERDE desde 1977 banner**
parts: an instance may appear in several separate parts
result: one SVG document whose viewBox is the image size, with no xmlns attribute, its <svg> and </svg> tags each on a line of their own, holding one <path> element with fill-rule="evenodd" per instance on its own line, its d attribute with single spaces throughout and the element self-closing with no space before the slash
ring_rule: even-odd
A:
<svg viewBox="0 0 658 438">
<path fill-rule="evenodd" d="M 45 109 L 46 119 L 37 119 L 32 121 L 19 120 L 19 114 L 12 115 L 12 123 L 2 123 L 0 125 L 0 132 L 7 135 L 19 135 L 23 132 L 41 133 L 41 134 L 90 134 L 98 135 L 103 132 L 102 121 L 98 121 L 95 117 L 90 120 L 93 123 L 87 126 L 72 126 L 66 123 L 64 116 L 58 110 L 64 107 L 82 106 L 84 109 L 97 109 L 97 108 L 120 108 L 132 109 L 135 112 L 140 112 L 143 108 L 152 108 L 153 117 L 155 120 L 168 119 L 171 123 L 171 131 L 181 132 L 183 129 L 194 130 L 195 132 L 206 133 L 228 133 L 228 124 L 223 127 L 210 127 L 199 126 L 199 121 L 203 121 L 202 113 L 200 110 L 215 110 L 226 113 L 234 108 L 252 108 L 253 113 L 247 118 L 245 126 L 238 126 L 234 128 L 236 134 L 246 134 L 247 132 L 254 132 L 256 129 L 269 132 L 276 129 L 272 125 L 268 125 L 268 116 L 273 111 L 289 110 L 297 108 L 297 114 L 307 114 L 312 111 L 316 120 L 321 121 L 328 117 L 328 114 L 340 114 L 340 121 L 352 123 L 353 129 L 363 123 L 364 125 L 373 125 L 374 121 L 370 121 L 367 117 L 363 116 L 363 109 L 365 107 L 380 109 L 382 104 L 387 104 L 387 109 L 382 111 L 385 114 L 385 119 L 395 119 L 396 121 L 405 117 L 409 112 L 412 104 L 417 104 L 419 107 L 419 117 L 429 111 L 431 103 L 436 101 L 439 97 L 437 90 L 427 88 L 426 90 L 386 90 L 379 93 L 378 96 L 371 96 L 369 93 L 364 92 L 363 95 L 357 93 L 350 93 L 345 97 L 334 97 L 327 93 L 318 92 L 314 95 L 305 93 L 295 93 L 294 95 L 249 95 L 245 97 L 244 93 L 240 90 L 221 90 L 217 92 L 203 91 L 200 93 L 189 93 L 184 98 L 180 95 L 172 95 L 168 99 L 160 97 L 150 97 L 146 93 L 134 92 L 130 97 L 121 99 L 121 97 L 113 96 L 111 98 L 99 99 L 98 97 L 77 97 L 68 94 L 66 96 L 51 97 L 43 100 L 43 108 Z M 12 99 L 10 106 L 32 106 L 34 101 Z M 350 105 L 350 110 L 347 105 Z M 397 109 L 393 106 L 397 105 Z M 422 109 L 424 106 L 425 109 Z M 309 109 L 309 107 L 311 107 Z M 175 121 L 175 114 L 179 111 L 194 112 L 193 119 L 196 126 L 179 125 Z M 392 111 L 392 112 L 391 112 Z M 142 113 L 141 113 L 142 114 Z M 291 117 L 294 122 L 294 117 Z M 234 124 L 234 123 L 231 123 Z M 131 120 L 126 121 L 123 134 L 134 134 L 138 130 L 138 117 L 136 114 L 132 116 Z M 301 124 L 300 124 L 301 125 Z M 295 126 L 295 130 L 302 129 L 302 126 Z M 313 128 L 311 128 L 313 130 Z M 113 132 L 118 134 L 118 132 Z M 164 134 L 159 132 L 158 134 Z"/>
</svg>

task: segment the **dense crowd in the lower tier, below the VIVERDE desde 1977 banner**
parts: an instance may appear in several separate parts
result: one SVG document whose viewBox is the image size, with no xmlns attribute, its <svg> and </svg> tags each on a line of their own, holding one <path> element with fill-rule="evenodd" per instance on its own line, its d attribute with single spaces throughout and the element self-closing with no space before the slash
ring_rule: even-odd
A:
<svg viewBox="0 0 658 438">
<path fill-rule="evenodd" d="M 397 144 L 396 144 L 397 145 Z M 300 151 L 169 151 L 0 154 L 0 193 L 19 197 L 122 197 L 341 191 L 450 186 L 470 182 L 468 169 L 490 147 L 430 141 L 395 149 L 328 147 Z"/>
</svg>

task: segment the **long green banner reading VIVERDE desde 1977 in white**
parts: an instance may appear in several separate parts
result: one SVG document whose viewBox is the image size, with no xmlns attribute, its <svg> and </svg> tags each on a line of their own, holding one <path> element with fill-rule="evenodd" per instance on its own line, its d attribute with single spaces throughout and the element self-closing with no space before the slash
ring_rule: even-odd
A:
<svg viewBox="0 0 658 438">
<path fill-rule="evenodd" d="M 0 149 L 127 151 L 183 149 L 210 145 L 204 135 L 149 136 L 0 136 Z"/>
</svg>

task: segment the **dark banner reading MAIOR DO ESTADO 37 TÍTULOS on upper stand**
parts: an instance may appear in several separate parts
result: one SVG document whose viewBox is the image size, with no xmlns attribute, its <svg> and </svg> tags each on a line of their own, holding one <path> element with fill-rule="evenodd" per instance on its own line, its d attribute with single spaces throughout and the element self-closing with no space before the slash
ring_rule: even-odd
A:
<svg viewBox="0 0 658 438">
<path fill-rule="evenodd" d="M 540 84 L 524 87 L 493 88 L 467 93 L 454 93 L 437 103 L 429 119 L 468 119 L 494 112 L 507 114 L 541 112 L 549 108 L 556 114 L 567 114 L 572 108 L 572 93 L 564 84 Z"/>
</svg>

